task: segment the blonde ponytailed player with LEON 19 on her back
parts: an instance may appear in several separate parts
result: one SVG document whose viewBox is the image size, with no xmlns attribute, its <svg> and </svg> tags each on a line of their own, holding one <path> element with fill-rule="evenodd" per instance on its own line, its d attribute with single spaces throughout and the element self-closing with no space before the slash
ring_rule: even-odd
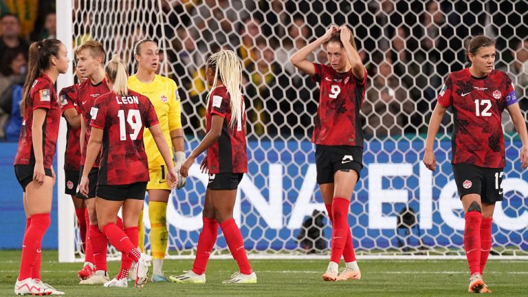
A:
<svg viewBox="0 0 528 297">
<path fill-rule="evenodd" d="M 99 228 L 115 248 L 136 263 L 135 284 L 139 286 L 147 280 L 152 259 L 137 249 L 137 219 L 148 181 L 148 161 L 142 140 L 144 127 L 149 128 L 162 154 L 171 188 L 176 186 L 177 174 L 154 107 L 148 98 L 127 87 L 126 63 L 114 55 L 105 72 L 112 91 L 99 96 L 91 108 L 91 135 L 79 188 L 85 195 L 89 192 L 88 175 L 101 152 L 96 188 Z M 121 207 L 124 231 L 115 224 Z M 130 265 L 122 266 L 119 274 L 104 287 L 126 287 Z"/>
</svg>

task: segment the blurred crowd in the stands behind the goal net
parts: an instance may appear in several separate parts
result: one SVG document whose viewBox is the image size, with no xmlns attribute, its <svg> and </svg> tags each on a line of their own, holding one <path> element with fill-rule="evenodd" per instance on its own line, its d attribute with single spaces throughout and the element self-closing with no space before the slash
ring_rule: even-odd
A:
<svg viewBox="0 0 528 297">
<path fill-rule="evenodd" d="M 4 101 L 10 100 L 3 100 L 3 94 L 23 76 L 28 41 L 54 36 L 54 26 L 47 25 L 54 14 L 39 11 L 42 21 L 33 27 L 39 30 L 23 32 L 20 19 L 5 14 L 4 6 L 2 14 L 8 17 L 2 17 L 0 42 L 2 116 L 11 113 L 4 109 Z M 468 66 L 463 41 L 476 34 L 496 38 L 496 67 L 511 76 L 526 114 L 527 10 L 526 1 L 498 0 L 74 0 L 74 41 L 102 41 L 109 54 L 121 53 L 131 61 L 131 72 L 133 43 L 145 37 L 159 41 L 164 61 L 160 71 L 178 83 L 186 133 L 197 136 L 203 133 L 205 62 L 220 48 L 236 50 L 245 66 L 248 133 L 297 139 L 311 135 L 318 87 L 289 63 L 289 57 L 329 25 L 348 24 L 369 74 L 362 107 L 366 137 L 401 137 L 426 131 L 437 90 L 449 72 Z M 98 11 L 111 12 L 111 17 Z M 310 58 L 327 62 L 322 48 Z"/>
</svg>

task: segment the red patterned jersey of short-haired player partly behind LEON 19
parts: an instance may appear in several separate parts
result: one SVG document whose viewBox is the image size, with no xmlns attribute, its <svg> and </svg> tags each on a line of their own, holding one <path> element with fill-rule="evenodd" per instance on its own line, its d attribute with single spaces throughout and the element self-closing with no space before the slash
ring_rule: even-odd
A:
<svg viewBox="0 0 528 297">
<path fill-rule="evenodd" d="M 79 108 L 80 113 L 83 115 L 85 120 L 85 126 L 86 126 L 86 133 L 85 133 L 85 147 L 82 148 L 81 156 L 80 156 L 80 164 L 84 165 L 86 160 L 86 146 L 88 145 L 88 140 L 90 139 L 90 131 L 91 131 L 91 107 L 94 107 L 94 102 L 96 102 L 96 99 L 101 96 L 102 94 L 107 94 L 110 91 L 108 88 L 106 80 L 102 80 L 97 85 L 94 85 L 91 83 L 91 80 L 87 79 L 84 83 L 82 83 L 77 90 L 77 106 Z M 97 157 L 96 162 L 94 163 L 94 167 L 99 167 L 100 163 L 100 155 Z"/>
</svg>

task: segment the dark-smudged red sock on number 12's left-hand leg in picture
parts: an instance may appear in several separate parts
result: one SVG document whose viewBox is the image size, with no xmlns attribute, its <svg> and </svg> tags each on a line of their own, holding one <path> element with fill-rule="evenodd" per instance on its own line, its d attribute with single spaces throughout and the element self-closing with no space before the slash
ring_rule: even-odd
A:
<svg viewBox="0 0 528 297">
<path fill-rule="evenodd" d="M 465 214 L 464 248 L 471 275 L 481 273 L 481 221 L 480 212 Z"/>
</svg>

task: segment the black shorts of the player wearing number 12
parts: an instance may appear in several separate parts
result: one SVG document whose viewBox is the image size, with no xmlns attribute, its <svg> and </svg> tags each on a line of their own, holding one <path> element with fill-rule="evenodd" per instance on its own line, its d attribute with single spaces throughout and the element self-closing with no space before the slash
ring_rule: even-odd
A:
<svg viewBox="0 0 528 297">
<path fill-rule="evenodd" d="M 503 168 L 483 168 L 472 164 L 452 164 L 460 199 L 468 194 L 481 195 L 481 202 L 503 201 Z"/>
</svg>

